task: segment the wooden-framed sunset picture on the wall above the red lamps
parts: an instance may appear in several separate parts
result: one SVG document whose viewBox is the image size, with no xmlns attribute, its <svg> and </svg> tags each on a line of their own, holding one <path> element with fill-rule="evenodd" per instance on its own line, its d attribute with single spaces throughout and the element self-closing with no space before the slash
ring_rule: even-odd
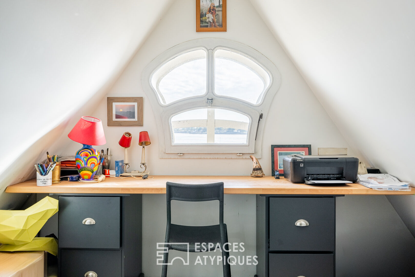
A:
<svg viewBox="0 0 415 277">
<path fill-rule="evenodd" d="M 108 126 L 143 126 L 142 97 L 107 97 Z"/>
</svg>

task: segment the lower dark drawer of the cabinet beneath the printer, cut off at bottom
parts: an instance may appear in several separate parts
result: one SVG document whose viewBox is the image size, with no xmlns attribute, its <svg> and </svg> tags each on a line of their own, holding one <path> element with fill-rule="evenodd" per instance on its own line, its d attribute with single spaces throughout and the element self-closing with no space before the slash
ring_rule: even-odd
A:
<svg viewBox="0 0 415 277">
<path fill-rule="evenodd" d="M 333 277 L 333 254 L 269 254 L 269 277 Z"/>
</svg>

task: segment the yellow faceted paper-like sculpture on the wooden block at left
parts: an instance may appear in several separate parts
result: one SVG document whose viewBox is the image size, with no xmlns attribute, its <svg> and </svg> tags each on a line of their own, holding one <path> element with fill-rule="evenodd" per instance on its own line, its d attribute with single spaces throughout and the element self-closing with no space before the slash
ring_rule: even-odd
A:
<svg viewBox="0 0 415 277">
<path fill-rule="evenodd" d="M 40 248 L 56 244 L 56 241 L 51 238 L 36 238 L 36 240 L 34 238 L 46 221 L 57 211 L 58 200 L 49 196 L 24 211 L 0 210 L 0 243 L 4 244 L 0 251 L 44 250 Z M 46 251 L 56 253 L 57 244 L 54 250 Z"/>
</svg>

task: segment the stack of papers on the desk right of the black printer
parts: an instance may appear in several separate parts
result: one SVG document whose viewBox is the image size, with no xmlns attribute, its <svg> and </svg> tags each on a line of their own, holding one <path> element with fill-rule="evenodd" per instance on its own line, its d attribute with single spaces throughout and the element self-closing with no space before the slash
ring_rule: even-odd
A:
<svg viewBox="0 0 415 277">
<path fill-rule="evenodd" d="M 358 183 L 371 189 L 378 190 L 411 190 L 408 182 L 400 182 L 391 174 L 363 174 L 357 175 Z"/>
</svg>

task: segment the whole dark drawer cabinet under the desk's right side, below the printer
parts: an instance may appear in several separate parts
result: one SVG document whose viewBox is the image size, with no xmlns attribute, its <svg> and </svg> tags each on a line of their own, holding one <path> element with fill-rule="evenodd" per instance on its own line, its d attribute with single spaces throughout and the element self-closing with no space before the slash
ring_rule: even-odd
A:
<svg viewBox="0 0 415 277">
<path fill-rule="evenodd" d="M 256 196 L 258 277 L 334 277 L 336 196 Z"/>
</svg>

